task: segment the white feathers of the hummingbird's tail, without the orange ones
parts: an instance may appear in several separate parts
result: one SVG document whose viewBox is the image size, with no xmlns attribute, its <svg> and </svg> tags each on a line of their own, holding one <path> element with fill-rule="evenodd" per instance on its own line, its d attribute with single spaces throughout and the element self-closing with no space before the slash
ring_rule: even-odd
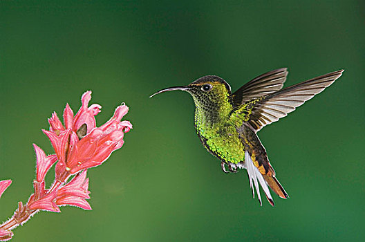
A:
<svg viewBox="0 0 365 242">
<path fill-rule="evenodd" d="M 254 196 L 254 187 L 252 186 L 252 180 L 253 180 L 254 186 L 256 188 L 257 197 L 259 198 L 260 205 L 262 206 L 259 183 L 263 188 L 263 192 L 265 192 L 266 196 L 268 196 L 268 198 L 270 198 L 271 200 L 272 196 L 270 194 L 268 184 L 263 179 L 263 176 L 260 173 L 259 169 L 257 169 L 257 167 L 254 166 L 254 162 L 252 161 L 250 153 L 248 153 L 248 151 L 245 151 L 245 166 L 247 169 L 248 178 L 250 179 L 250 187 L 252 188 L 252 194 Z M 259 183 L 257 182 L 257 180 L 259 180 Z"/>
</svg>

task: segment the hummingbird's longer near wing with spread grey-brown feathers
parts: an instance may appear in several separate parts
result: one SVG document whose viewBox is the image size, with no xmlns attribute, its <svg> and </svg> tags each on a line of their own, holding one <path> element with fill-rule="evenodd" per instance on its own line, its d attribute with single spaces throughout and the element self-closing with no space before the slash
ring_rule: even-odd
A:
<svg viewBox="0 0 365 242">
<path fill-rule="evenodd" d="M 241 116 L 245 122 L 250 124 L 252 129 L 259 131 L 265 125 L 285 117 L 288 113 L 294 111 L 297 106 L 301 106 L 316 94 L 324 91 L 327 86 L 333 84 L 342 75 L 343 71 L 321 75 L 306 82 L 250 100 L 250 102 L 238 106 L 232 115 Z"/>
</svg>

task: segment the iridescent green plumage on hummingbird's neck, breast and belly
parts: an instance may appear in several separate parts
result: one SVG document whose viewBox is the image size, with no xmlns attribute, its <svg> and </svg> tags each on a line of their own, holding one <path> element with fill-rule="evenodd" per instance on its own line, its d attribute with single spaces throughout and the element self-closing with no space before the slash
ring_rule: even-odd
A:
<svg viewBox="0 0 365 242">
<path fill-rule="evenodd" d="M 191 91 L 196 106 L 196 133 L 210 153 L 224 162 L 237 164 L 245 160 L 245 147 L 230 120 L 230 93 L 223 84 L 213 86 L 208 93 Z"/>
</svg>

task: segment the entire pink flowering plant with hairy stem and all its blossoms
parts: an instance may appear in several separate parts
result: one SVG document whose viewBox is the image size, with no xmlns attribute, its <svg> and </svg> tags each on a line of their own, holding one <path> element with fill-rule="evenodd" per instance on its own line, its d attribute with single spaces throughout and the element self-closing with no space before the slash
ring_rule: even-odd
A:
<svg viewBox="0 0 365 242">
<path fill-rule="evenodd" d="M 66 104 L 63 113 L 64 124 L 55 112 L 48 119 L 49 131 L 43 131 L 50 139 L 55 154 L 46 156 L 41 148 L 33 144 L 37 156 L 34 193 L 30 195 L 26 204 L 19 202 L 14 215 L 0 224 L 0 241 L 12 239 L 14 234 L 11 230 L 26 223 L 39 210 L 60 212 L 59 207 L 64 205 L 91 210 L 86 201 L 90 198 L 87 169 L 101 165 L 113 151 L 120 149 L 124 144 L 124 133 L 129 132 L 132 124 L 129 121 L 121 121 L 128 113 L 128 106 L 121 104 L 108 122 L 97 127 L 95 115 L 100 113 L 102 106 L 88 106 L 91 91 L 86 91 L 81 100 L 82 106 L 76 115 Z M 46 189 L 46 174 L 55 163 L 55 180 Z M 73 175 L 75 176 L 67 183 L 68 178 Z M 11 180 L 0 181 L 0 197 L 11 183 Z"/>
</svg>

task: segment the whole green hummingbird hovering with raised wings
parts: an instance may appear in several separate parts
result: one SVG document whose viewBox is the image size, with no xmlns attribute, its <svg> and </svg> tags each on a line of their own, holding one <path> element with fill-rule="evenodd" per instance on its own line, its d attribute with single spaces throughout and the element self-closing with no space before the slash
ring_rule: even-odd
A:
<svg viewBox="0 0 365 242">
<path fill-rule="evenodd" d="M 246 169 L 255 196 L 262 206 L 260 188 L 274 206 L 270 189 L 281 198 L 288 198 L 276 178 L 257 132 L 294 111 L 313 96 L 324 91 L 342 75 L 335 71 L 283 89 L 287 68 L 259 75 L 232 93 L 230 84 L 216 75 L 205 75 L 187 86 L 162 89 L 186 91 L 194 100 L 194 127 L 203 146 L 221 160 L 225 173 Z M 270 189 L 269 189 L 270 187 Z"/>
</svg>

